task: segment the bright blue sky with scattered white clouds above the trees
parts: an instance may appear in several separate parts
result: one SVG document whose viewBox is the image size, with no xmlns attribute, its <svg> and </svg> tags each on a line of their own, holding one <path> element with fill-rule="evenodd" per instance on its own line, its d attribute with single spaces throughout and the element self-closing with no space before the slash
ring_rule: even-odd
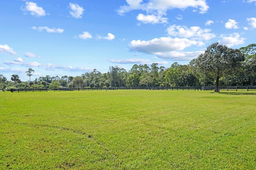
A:
<svg viewBox="0 0 256 170">
<path fill-rule="evenodd" d="M 256 0 L 1 0 L 0 74 L 188 64 L 215 42 L 256 43 L 255 10 Z"/>
</svg>

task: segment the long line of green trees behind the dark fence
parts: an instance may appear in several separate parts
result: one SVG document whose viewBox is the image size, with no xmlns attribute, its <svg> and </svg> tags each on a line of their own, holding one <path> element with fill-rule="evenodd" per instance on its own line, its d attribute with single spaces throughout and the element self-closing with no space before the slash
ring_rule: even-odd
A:
<svg viewBox="0 0 256 170">
<path fill-rule="evenodd" d="M 29 68 L 27 76 L 34 70 Z M 7 81 L 0 74 L 1 88 L 81 87 L 157 87 L 157 86 L 252 86 L 256 85 L 256 44 L 232 49 L 219 43 L 208 46 L 203 54 L 189 64 L 173 63 L 169 68 L 153 64 L 134 64 L 130 70 L 110 66 L 108 72 L 94 69 L 80 76 L 53 76 L 22 82 L 17 74 Z"/>
</svg>

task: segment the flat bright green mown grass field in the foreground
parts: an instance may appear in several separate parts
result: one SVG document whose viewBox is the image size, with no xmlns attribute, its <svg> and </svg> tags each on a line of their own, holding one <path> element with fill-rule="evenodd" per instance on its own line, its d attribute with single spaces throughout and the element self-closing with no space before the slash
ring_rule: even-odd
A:
<svg viewBox="0 0 256 170">
<path fill-rule="evenodd" d="M 256 169 L 256 92 L 0 92 L 0 169 Z"/>
</svg>

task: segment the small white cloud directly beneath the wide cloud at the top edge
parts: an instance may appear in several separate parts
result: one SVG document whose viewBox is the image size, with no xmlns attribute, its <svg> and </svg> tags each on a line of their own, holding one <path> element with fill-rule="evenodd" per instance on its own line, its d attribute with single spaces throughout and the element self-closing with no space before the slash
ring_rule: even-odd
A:
<svg viewBox="0 0 256 170">
<path fill-rule="evenodd" d="M 144 15 L 144 14 L 139 14 L 137 16 L 137 20 L 141 21 L 142 23 L 167 23 L 168 18 L 163 18 L 162 15 Z"/>
</svg>

